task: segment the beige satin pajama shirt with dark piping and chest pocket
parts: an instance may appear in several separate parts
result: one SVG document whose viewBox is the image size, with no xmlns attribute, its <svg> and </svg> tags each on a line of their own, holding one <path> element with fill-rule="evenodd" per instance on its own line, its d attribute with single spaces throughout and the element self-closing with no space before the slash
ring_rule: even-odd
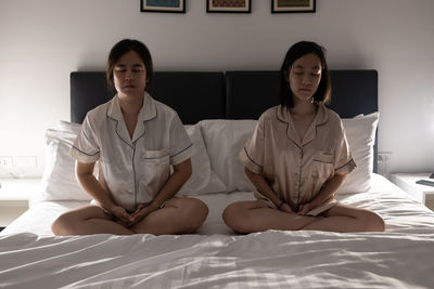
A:
<svg viewBox="0 0 434 289">
<path fill-rule="evenodd" d="M 335 172 L 349 173 L 356 168 L 341 118 L 323 105 L 318 106 L 303 140 L 286 108 L 279 105 L 266 110 L 240 158 L 248 170 L 264 175 L 277 196 L 295 211 L 311 201 Z M 276 208 L 259 192 L 255 197 Z M 331 198 L 309 214 L 317 215 L 335 202 Z"/>
</svg>

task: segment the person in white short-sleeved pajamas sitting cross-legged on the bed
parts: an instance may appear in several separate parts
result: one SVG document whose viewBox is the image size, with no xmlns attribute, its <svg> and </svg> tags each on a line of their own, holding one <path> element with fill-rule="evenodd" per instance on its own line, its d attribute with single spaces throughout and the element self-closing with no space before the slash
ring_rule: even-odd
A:
<svg viewBox="0 0 434 289">
<path fill-rule="evenodd" d="M 53 233 L 194 232 L 206 219 L 206 205 L 174 198 L 191 175 L 192 143 L 175 110 L 144 91 L 152 78 L 148 48 L 137 40 L 119 41 L 110 53 L 106 74 L 117 94 L 87 114 L 71 149 L 77 180 L 93 201 L 62 214 Z"/>
</svg>

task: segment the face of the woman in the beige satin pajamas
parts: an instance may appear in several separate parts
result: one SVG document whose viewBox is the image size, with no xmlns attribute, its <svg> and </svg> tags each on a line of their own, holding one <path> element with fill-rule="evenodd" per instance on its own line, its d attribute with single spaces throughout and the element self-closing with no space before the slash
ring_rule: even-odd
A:
<svg viewBox="0 0 434 289">
<path fill-rule="evenodd" d="M 292 64 L 289 82 L 294 103 L 311 102 L 321 80 L 321 61 L 315 53 L 306 54 Z"/>
</svg>

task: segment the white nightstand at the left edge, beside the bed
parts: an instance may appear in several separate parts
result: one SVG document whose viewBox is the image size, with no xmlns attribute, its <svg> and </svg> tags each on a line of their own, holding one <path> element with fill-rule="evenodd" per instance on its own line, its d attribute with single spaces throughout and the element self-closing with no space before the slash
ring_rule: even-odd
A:
<svg viewBox="0 0 434 289">
<path fill-rule="evenodd" d="M 40 179 L 0 180 L 0 228 L 28 210 L 31 199 L 38 194 L 39 183 Z"/>
</svg>

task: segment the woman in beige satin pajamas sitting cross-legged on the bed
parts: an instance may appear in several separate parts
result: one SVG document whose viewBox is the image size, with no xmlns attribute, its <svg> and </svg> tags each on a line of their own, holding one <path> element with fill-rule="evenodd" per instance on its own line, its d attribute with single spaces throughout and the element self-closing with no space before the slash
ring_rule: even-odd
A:
<svg viewBox="0 0 434 289">
<path fill-rule="evenodd" d="M 323 48 L 295 43 L 280 81 L 281 104 L 260 116 L 240 152 L 257 200 L 228 206 L 226 224 L 239 233 L 384 231 L 376 213 L 334 199 L 356 163 L 340 117 L 323 105 L 331 92 Z"/>
</svg>

